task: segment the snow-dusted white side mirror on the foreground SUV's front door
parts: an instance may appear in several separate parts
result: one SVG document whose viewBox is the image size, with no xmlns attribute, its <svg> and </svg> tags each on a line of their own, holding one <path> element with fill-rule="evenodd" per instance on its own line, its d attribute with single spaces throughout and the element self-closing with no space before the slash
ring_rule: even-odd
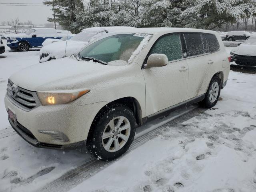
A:
<svg viewBox="0 0 256 192">
<path fill-rule="evenodd" d="M 168 64 L 168 58 L 165 54 L 151 54 L 147 60 L 146 68 L 162 67 Z"/>
</svg>

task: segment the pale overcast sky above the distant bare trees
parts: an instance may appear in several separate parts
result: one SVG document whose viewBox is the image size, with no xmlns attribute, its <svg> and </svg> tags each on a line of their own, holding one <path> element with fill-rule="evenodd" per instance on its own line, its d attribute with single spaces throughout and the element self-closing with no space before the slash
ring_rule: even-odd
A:
<svg viewBox="0 0 256 192">
<path fill-rule="evenodd" d="M 33 24 L 47 23 L 47 17 L 52 16 L 50 7 L 42 6 L 3 6 L 2 3 L 40 3 L 44 0 L 0 0 L 0 23 L 18 17 L 20 22 L 31 20 Z"/>
</svg>

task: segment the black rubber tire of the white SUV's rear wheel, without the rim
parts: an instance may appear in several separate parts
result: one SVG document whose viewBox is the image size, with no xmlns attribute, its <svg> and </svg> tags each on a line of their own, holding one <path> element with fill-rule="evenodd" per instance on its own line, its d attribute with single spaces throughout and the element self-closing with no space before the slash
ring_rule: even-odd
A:
<svg viewBox="0 0 256 192">
<path fill-rule="evenodd" d="M 210 100 L 211 99 L 210 92 L 211 92 L 211 87 L 214 84 L 214 82 L 218 83 L 218 96 L 216 96 L 216 99 L 214 100 L 214 102 L 211 102 L 211 100 Z M 214 76 L 212 78 L 212 80 L 210 81 L 210 84 L 209 84 L 208 90 L 207 90 L 207 92 L 205 94 L 204 100 L 202 100 L 200 102 L 200 105 L 205 107 L 205 108 L 212 108 L 213 106 L 215 106 L 216 103 L 218 102 L 219 97 L 220 97 L 220 90 L 221 90 L 221 80 L 217 76 Z"/>
</svg>

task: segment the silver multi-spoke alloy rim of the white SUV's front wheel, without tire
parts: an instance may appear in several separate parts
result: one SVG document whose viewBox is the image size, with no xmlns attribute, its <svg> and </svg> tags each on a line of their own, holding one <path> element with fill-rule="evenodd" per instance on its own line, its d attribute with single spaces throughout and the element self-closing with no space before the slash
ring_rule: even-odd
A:
<svg viewBox="0 0 256 192">
<path fill-rule="evenodd" d="M 131 131 L 129 120 L 118 116 L 110 120 L 102 134 L 102 145 L 108 152 L 120 150 L 128 141 Z"/>
</svg>

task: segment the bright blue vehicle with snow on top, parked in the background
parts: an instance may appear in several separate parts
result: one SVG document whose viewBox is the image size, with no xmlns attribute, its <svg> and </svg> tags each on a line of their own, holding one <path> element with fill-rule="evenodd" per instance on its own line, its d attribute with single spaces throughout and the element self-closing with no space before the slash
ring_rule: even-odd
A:
<svg viewBox="0 0 256 192">
<path fill-rule="evenodd" d="M 12 50 L 28 51 L 33 47 L 41 47 L 48 38 L 60 39 L 62 36 L 58 36 L 53 28 L 31 28 L 26 33 L 7 37 L 7 46 Z"/>
</svg>

